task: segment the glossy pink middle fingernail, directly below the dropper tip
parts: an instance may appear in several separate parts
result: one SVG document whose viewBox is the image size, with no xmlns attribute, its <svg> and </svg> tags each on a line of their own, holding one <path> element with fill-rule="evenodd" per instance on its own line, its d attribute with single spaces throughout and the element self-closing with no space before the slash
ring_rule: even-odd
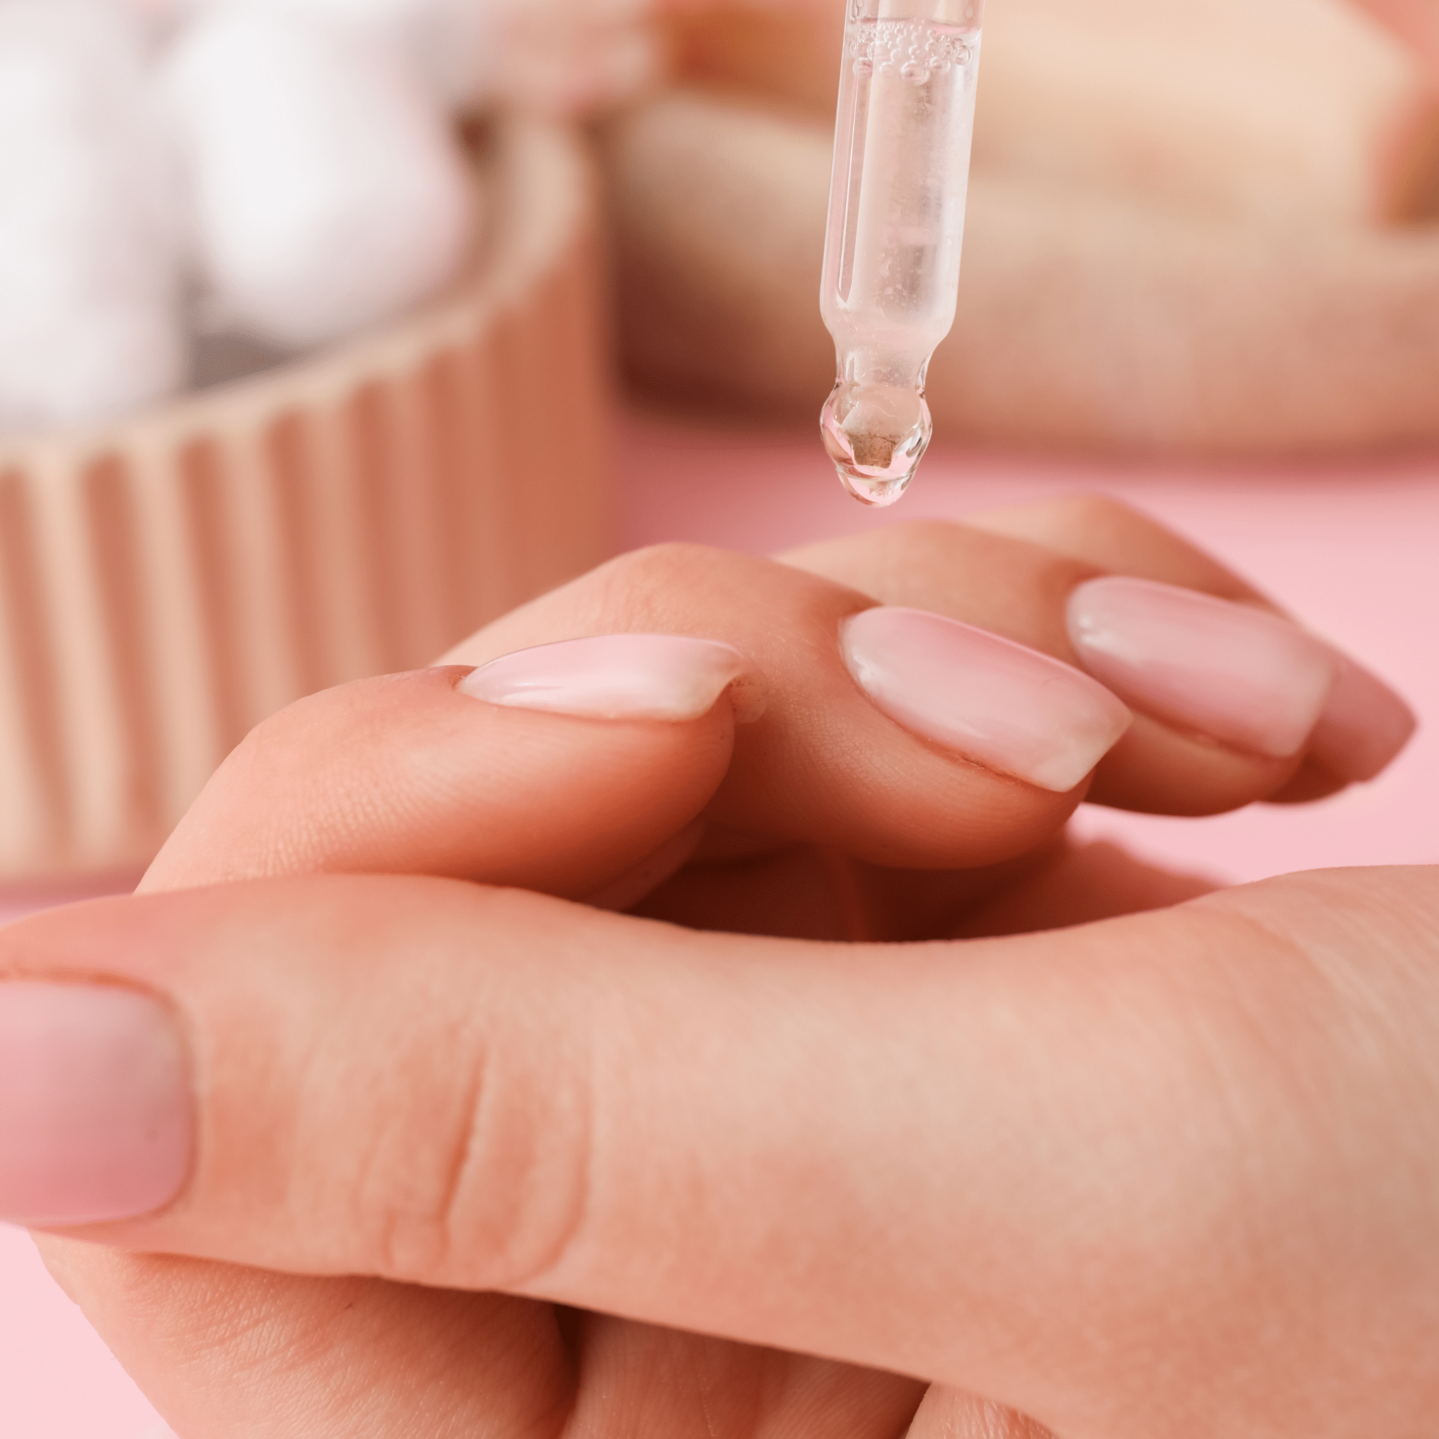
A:
<svg viewBox="0 0 1439 1439">
<path fill-rule="evenodd" d="M 1072 790 L 1130 727 L 1088 675 L 928 610 L 852 614 L 840 649 L 895 724 L 1043 790 Z"/>
</svg>

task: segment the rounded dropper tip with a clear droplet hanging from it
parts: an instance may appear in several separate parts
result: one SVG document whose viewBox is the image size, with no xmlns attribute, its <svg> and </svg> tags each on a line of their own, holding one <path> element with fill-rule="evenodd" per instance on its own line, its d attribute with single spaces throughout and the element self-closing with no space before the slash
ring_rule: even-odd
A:
<svg viewBox="0 0 1439 1439">
<path fill-rule="evenodd" d="M 862 504 L 892 505 L 930 443 L 930 406 L 920 389 L 839 380 L 819 426 L 845 489 Z"/>
</svg>

